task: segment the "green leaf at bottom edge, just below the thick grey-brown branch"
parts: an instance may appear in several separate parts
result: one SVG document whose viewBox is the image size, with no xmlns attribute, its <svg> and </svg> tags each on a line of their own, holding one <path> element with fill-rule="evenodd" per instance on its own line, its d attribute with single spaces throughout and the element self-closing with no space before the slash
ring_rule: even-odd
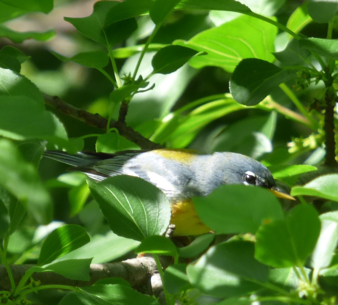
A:
<svg viewBox="0 0 338 305">
<path fill-rule="evenodd" d="M 104 301 L 110 302 L 109 304 L 159 305 L 159 302 L 154 298 L 137 292 L 125 285 L 93 285 L 82 287 L 81 289 Z M 74 302 L 73 304 L 78 304 L 78 302 Z"/>
</svg>

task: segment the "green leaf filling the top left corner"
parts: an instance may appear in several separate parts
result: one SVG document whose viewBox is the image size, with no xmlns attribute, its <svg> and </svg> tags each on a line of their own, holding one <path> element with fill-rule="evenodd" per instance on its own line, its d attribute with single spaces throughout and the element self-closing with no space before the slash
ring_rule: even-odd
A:
<svg viewBox="0 0 338 305">
<path fill-rule="evenodd" d="M 0 3 L 0 22 L 4 22 L 30 12 L 49 13 L 53 0 L 2 0 Z"/>
</svg>

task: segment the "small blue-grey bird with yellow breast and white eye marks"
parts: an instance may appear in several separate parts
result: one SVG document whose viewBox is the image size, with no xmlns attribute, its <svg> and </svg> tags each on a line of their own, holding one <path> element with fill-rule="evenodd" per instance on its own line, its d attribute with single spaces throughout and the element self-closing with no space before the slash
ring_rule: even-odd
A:
<svg viewBox="0 0 338 305">
<path fill-rule="evenodd" d="M 171 203 L 173 235 L 200 235 L 211 229 L 197 215 L 192 196 L 207 196 L 221 184 L 263 187 L 275 196 L 295 200 L 276 187 L 270 171 L 242 154 L 198 154 L 189 149 L 129 150 L 114 154 L 46 151 L 45 157 L 74 166 L 102 181 L 116 175 L 140 177 L 162 190 Z"/>
</svg>

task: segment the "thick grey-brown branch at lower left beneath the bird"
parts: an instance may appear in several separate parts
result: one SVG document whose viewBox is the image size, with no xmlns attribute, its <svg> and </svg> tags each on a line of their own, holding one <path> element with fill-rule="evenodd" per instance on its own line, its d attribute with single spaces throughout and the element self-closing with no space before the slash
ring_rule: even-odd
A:
<svg viewBox="0 0 338 305">
<path fill-rule="evenodd" d="M 168 267 L 170 263 L 171 257 L 161 258 L 161 264 L 164 269 Z M 33 266 L 34 265 L 10 265 L 10 270 L 13 274 L 16 285 L 19 283 L 26 270 Z M 100 279 L 118 277 L 129 282 L 133 288 L 139 288 L 145 286 L 150 280 L 151 276 L 157 272 L 158 271 L 154 259 L 149 256 L 143 256 L 128 259 L 122 262 L 91 264 L 90 280 L 88 282 L 71 280 L 49 271 L 34 273 L 32 278 L 35 281 L 41 281 L 41 285 L 68 285 L 81 287 L 93 285 Z M 9 277 L 4 265 L 0 265 L 0 289 L 11 289 Z M 154 290 L 156 290 L 158 293 L 157 287 Z"/>
</svg>

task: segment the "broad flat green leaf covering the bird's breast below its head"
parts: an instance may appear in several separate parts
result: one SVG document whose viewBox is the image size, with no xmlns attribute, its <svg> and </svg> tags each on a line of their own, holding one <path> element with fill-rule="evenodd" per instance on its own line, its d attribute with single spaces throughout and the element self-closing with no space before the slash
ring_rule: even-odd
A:
<svg viewBox="0 0 338 305">
<path fill-rule="evenodd" d="M 283 218 L 279 201 L 263 188 L 222 185 L 193 201 L 203 223 L 217 234 L 255 234 L 263 222 Z"/>
</svg>

